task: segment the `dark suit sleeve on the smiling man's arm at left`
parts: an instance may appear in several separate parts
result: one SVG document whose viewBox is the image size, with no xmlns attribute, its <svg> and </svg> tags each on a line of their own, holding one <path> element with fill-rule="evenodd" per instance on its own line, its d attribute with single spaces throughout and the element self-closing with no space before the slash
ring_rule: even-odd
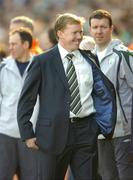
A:
<svg viewBox="0 0 133 180">
<path fill-rule="evenodd" d="M 22 140 L 35 137 L 30 119 L 36 104 L 40 81 L 40 64 L 36 57 L 29 68 L 18 102 L 17 120 Z"/>
</svg>

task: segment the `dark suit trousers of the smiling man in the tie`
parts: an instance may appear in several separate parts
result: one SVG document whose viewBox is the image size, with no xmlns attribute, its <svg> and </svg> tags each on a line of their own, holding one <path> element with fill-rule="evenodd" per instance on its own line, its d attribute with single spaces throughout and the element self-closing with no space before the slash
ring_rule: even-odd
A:
<svg viewBox="0 0 133 180">
<path fill-rule="evenodd" d="M 67 145 L 61 154 L 40 151 L 39 180 L 63 180 L 68 165 L 75 180 L 96 180 L 98 132 L 94 115 L 70 122 Z"/>
</svg>

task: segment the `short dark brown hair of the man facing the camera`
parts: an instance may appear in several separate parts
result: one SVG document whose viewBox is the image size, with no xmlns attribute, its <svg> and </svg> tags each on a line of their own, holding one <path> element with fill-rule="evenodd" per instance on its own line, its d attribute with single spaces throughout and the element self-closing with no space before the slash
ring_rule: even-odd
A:
<svg viewBox="0 0 133 180">
<path fill-rule="evenodd" d="M 104 9 L 98 9 L 92 12 L 91 16 L 89 17 L 89 25 L 91 26 L 92 19 L 103 19 L 103 18 L 109 20 L 109 26 L 111 27 L 113 24 L 111 14 Z"/>
</svg>

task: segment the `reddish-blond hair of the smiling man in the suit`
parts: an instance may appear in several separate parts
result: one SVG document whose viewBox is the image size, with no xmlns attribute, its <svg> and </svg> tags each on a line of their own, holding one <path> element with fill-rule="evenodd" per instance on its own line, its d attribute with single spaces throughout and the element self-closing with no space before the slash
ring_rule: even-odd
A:
<svg viewBox="0 0 133 180">
<path fill-rule="evenodd" d="M 83 26 L 85 19 L 71 13 L 59 14 L 55 21 L 55 34 L 57 31 L 64 30 L 68 24 L 81 24 Z M 58 37 L 57 37 L 58 38 Z"/>
</svg>

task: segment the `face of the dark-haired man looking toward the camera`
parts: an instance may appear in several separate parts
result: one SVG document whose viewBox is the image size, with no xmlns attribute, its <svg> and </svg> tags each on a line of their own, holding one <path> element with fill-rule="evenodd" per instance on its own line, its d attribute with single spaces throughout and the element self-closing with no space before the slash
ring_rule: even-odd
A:
<svg viewBox="0 0 133 180">
<path fill-rule="evenodd" d="M 110 27 L 108 19 L 91 19 L 90 34 L 99 47 L 106 46 L 110 42 L 112 31 L 113 26 Z"/>
</svg>

